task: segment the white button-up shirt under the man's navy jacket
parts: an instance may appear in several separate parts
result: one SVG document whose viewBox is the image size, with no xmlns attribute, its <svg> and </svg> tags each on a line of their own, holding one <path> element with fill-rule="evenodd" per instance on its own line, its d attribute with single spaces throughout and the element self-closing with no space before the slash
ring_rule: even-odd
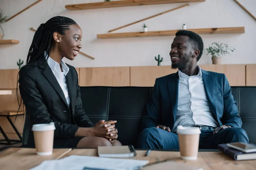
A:
<svg viewBox="0 0 256 170">
<path fill-rule="evenodd" d="M 187 76 L 178 70 L 178 108 L 176 121 L 172 129 L 174 132 L 177 131 L 178 125 L 207 125 L 212 127 L 218 126 L 218 123 L 213 118 L 208 105 L 204 90 L 204 82 L 202 79 L 202 71 L 199 66 L 198 69 L 198 75 L 195 76 Z"/>
</svg>

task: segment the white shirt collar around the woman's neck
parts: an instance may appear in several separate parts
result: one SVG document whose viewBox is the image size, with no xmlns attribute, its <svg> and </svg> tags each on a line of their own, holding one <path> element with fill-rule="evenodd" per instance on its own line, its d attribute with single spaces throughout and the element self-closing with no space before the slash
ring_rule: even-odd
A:
<svg viewBox="0 0 256 170">
<path fill-rule="evenodd" d="M 46 54 L 46 51 L 44 51 L 44 57 L 47 58 L 47 54 Z M 52 69 L 52 71 L 54 72 L 61 72 L 61 68 L 60 68 L 60 65 L 58 62 L 55 62 L 51 57 L 48 57 L 47 59 L 47 63 L 49 65 L 49 67 Z M 67 73 L 69 71 L 69 67 L 66 65 L 66 63 L 64 62 L 63 59 L 61 59 L 61 67 L 62 67 L 62 70 L 63 70 L 63 74 L 65 76 L 67 76 Z"/>
</svg>

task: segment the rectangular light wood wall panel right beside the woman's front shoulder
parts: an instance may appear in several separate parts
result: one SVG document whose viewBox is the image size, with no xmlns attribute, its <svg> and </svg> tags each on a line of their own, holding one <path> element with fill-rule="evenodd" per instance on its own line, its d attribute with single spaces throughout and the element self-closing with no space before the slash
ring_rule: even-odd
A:
<svg viewBox="0 0 256 170">
<path fill-rule="evenodd" d="M 129 67 L 80 68 L 80 86 L 129 85 Z"/>
</svg>

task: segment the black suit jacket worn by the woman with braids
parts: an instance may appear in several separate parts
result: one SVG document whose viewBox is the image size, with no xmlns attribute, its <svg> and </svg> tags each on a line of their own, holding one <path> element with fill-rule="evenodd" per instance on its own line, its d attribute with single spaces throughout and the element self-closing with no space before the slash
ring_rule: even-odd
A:
<svg viewBox="0 0 256 170">
<path fill-rule="evenodd" d="M 67 66 L 70 68 L 66 76 L 70 107 L 44 57 L 23 66 L 19 75 L 20 95 L 31 124 L 54 122 L 54 137 L 58 139 L 73 138 L 79 127 L 94 127 L 82 108 L 76 69 Z M 30 132 L 29 139 L 31 136 Z"/>
</svg>

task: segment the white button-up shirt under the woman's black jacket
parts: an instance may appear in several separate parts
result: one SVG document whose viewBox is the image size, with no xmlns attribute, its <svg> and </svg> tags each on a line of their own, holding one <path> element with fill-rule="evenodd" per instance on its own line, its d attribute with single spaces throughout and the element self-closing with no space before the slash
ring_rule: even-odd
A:
<svg viewBox="0 0 256 170">
<path fill-rule="evenodd" d="M 44 56 L 47 57 L 46 52 L 44 52 Z M 66 82 L 66 77 L 65 77 L 65 76 L 67 76 L 69 67 L 66 65 L 66 63 L 63 60 L 61 60 L 61 67 L 63 70 L 63 72 L 62 72 L 59 63 L 55 62 L 51 57 L 48 57 L 47 63 L 49 65 L 49 67 L 51 68 L 52 73 L 54 74 L 55 78 L 57 79 L 59 85 L 61 86 L 61 89 L 66 98 L 67 104 L 70 105 L 70 98 L 68 95 L 67 82 Z"/>
</svg>

